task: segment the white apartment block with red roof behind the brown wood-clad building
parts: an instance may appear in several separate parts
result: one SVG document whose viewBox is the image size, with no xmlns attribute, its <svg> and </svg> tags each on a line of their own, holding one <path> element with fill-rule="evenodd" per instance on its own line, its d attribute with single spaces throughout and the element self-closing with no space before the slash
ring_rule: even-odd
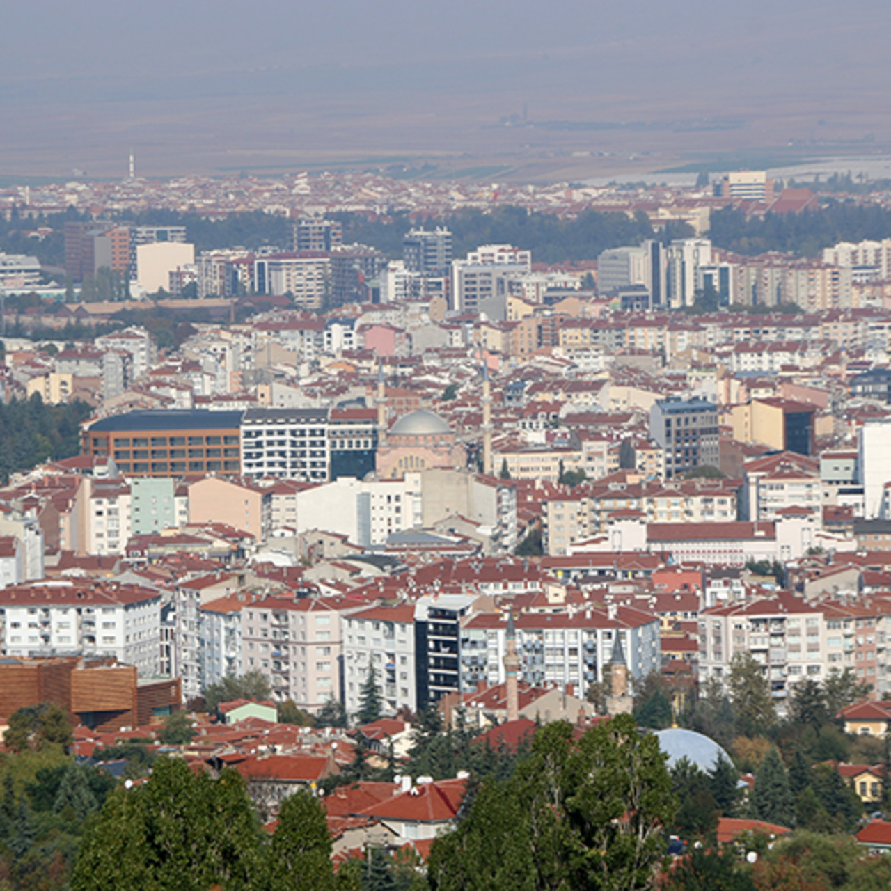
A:
<svg viewBox="0 0 891 891">
<path fill-rule="evenodd" d="M 110 656 L 159 674 L 160 594 L 134 584 L 53 581 L 0 590 L 4 656 Z"/>
</svg>

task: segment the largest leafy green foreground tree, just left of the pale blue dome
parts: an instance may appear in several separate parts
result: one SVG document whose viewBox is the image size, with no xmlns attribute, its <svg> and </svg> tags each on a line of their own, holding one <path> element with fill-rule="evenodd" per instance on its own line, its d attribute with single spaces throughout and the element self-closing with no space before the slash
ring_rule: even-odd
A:
<svg viewBox="0 0 891 891">
<path fill-rule="evenodd" d="M 484 783 L 466 819 L 434 842 L 429 885 L 647 888 L 675 808 L 658 740 L 631 715 L 577 741 L 570 724 L 546 724 L 511 780 Z"/>
</svg>

